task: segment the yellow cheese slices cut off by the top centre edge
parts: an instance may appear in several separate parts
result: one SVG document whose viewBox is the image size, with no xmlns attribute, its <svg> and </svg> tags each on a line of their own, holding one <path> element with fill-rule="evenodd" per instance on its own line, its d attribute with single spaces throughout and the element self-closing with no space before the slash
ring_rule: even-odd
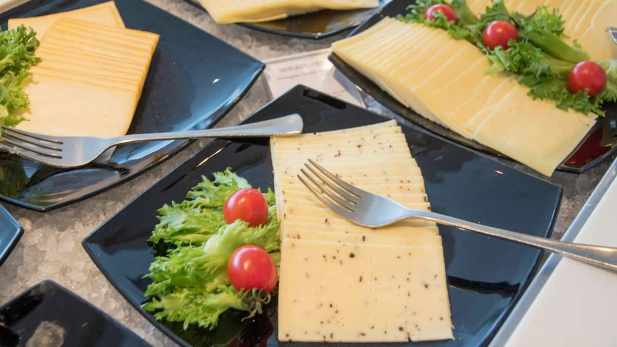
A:
<svg viewBox="0 0 617 347">
<path fill-rule="evenodd" d="M 199 0 L 215 22 L 266 22 L 323 9 L 378 7 L 379 0 Z"/>
</svg>

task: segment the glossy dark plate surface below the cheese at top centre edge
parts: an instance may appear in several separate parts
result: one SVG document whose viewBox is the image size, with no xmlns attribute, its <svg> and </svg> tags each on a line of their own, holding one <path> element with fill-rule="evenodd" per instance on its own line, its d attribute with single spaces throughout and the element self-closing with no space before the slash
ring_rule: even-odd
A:
<svg viewBox="0 0 617 347">
<path fill-rule="evenodd" d="M 186 1 L 199 9 L 204 9 L 197 1 Z M 380 0 L 379 6 L 384 6 L 384 4 L 390 1 L 392 0 Z M 271 22 L 240 23 L 240 25 L 276 35 L 318 40 L 353 28 L 376 14 L 378 11 L 378 8 L 349 11 L 323 10 L 305 15 L 296 15 L 286 19 L 273 20 Z"/>
</svg>

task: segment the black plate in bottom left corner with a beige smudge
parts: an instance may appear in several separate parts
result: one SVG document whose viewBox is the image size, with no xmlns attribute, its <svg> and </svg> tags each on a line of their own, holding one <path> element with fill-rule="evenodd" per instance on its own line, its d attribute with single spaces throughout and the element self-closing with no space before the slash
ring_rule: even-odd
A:
<svg viewBox="0 0 617 347">
<path fill-rule="evenodd" d="M 63 286 L 43 281 L 0 306 L 0 346 L 150 346 Z"/>
</svg>

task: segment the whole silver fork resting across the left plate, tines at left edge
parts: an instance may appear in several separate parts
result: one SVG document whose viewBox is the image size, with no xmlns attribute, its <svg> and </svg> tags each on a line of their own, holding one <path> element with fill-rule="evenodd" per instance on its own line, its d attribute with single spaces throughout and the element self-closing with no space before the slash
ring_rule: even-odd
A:
<svg viewBox="0 0 617 347">
<path fill-rule="evenodd" d="M 2 134 L 0 149 L 46 165 L 70 168 L 89 164 L 106 149 L 118 144 L 189 138 L 246 138 L 296 135 L 302 133 L 303 126 L 302 117 L 298 114 L 292 114 L 264 122 L 237 125 L 235 127 L 189 130 L 186 132 L 134 134 L 115 138 L 50 136 L 2 127 L 0 130 Z"/>
</svg>

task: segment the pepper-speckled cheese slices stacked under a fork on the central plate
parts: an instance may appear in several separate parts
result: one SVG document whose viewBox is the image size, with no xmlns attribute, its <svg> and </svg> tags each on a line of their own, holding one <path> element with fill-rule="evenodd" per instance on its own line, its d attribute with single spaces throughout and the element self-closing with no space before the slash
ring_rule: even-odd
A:
<svg viewBox="0 0 617 347">
<path fill-rule="evenodd" d="M 281 220 L 281 341 L 386 342 L 452 338 L 441 237 L 408 220 L 374 230 L 320 203 L 297 178 L 311 158 L 342 179 L 408 207 L 430 209 L 420 168 L 394 121 L 273 138 Z"/>
</svg>

